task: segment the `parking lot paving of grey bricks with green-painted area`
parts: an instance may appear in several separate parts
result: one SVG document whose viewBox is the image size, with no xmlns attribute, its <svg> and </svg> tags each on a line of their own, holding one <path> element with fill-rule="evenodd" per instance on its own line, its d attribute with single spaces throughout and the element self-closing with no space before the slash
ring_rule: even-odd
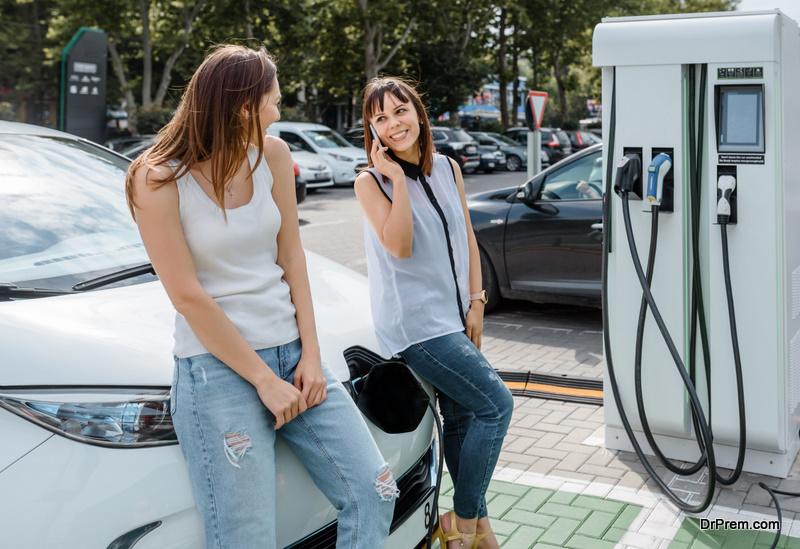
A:
<svg viewBox="0 0 800 549">
<path fill-rule="evenodd" d="M 475 175 L 466 183 L 477 190 L 521 177 Z M 363 218 L 352 189 L 310 195 L 300 205 L 300 217 L 308 249 L 366 274 Z M 483 351 L 498 370 L 600 379 L 601 315 L 504 302 L 485 319 Z M 679 480 L 663 467 L 657 472 L 686 497 L 697 498 L 706 482 L 703 473 Z M 661 495 L 633 454 L 605 448 L 602 407 L 515 397 L 488 506 L 503 548 L 766 548 L 775 529 L 753 528 L 770 526 L 761 521 L 775 520 L 776 510 L 758 483 L 800 491 L 798 479 L 797 461 L 788 479 L 745 473 L 733 487 L 717 489 L 709 510 L 688 517 Z M 450 490 L 445 484 L 445 509 Z M 781 507 L 784 536 L 778 547 L 800 548 L 800 499 L 782 497 Z M 737 521 L 749 529 L 702 530 L 702 518 Z"/>
</svg>

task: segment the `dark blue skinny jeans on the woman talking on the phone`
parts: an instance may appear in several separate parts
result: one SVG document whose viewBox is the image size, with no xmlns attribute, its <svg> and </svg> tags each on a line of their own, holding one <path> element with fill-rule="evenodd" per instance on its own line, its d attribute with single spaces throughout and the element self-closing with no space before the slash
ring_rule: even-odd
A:
<svg viewBox="0 0 800 549">
<path fill-rule="evenodd" d="M 486 489 L 514 409 L 511 391 L 463 332 L 415 343 L 400 355 L 438 391 L 454 511 L 487 516 Z"/>
</svg>

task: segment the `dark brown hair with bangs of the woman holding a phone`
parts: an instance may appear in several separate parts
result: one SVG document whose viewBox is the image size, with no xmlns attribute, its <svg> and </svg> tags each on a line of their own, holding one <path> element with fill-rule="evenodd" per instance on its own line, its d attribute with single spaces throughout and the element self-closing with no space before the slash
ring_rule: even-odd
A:
<svg viewBox="0 0 800 549">
<path fill-rule="evenodd" d="M 416 87 L 402 78 L 393 76 L 383 76 L 373 78 L 364 88 L 364 148 L 367 149 L 367 159 L 369 166 L 372 167 L 372 134 L 367 129 L 370 119 L 376 112 L 383 110 L 383 98 L 385 94 L 391 93 L 403 103 L 411 103 L 417 111 L 417 116 L 422 121 L 419 128 L 419 167 L 422 173 L 430 175 L 433 169 L 433 136 L 431 135 L 431 125 L 428 122 L 428 113 L 422 104 L 422 98 Z"/>
</svg>

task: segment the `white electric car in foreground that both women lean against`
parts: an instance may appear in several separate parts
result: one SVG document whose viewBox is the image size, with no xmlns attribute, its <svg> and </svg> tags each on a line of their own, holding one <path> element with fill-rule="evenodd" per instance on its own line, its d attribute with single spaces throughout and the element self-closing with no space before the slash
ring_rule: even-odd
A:
<svg viewBox="0 0 800 549">
<path fill-rule="evenodd" d="M 0 122 L 0 546 L 201 548 L 169 416 L 174 310 L 124 197 L 128 160 Z M 323 360 L 347 382 L 388 357 L 363 276 L 308 254 Z M 430 387 L 425 385 L 430 392 Z M 432 514 L 433 416 L 368 425 L 400 488 L 387 547 Z M 280 437 L 279 547 L 333 547 L 336 511 Z"/>
</svg>

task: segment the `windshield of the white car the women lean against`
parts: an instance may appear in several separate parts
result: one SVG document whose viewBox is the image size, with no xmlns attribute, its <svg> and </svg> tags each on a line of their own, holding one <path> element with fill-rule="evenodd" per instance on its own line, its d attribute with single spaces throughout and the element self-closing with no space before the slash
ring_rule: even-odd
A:
<svg viewBox="0 0 800 549">
<path fill-rule="evenodd" d="M 0 135 L 0 282 L 70 289 L 147 263 L 125 203 L 128 165 L 74 139 Z"/>
</svg>

